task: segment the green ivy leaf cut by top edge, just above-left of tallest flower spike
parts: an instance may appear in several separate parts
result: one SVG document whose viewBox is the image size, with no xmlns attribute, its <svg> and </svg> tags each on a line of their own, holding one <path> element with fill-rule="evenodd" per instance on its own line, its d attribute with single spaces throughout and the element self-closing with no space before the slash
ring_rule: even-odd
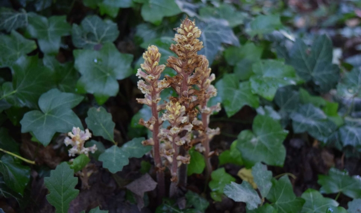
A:
<svg viewBox="0 0 361 213">
<path fill-rule="evenodd" d="M 163 17 L 181 13 L 181 9 L 174 0 L 147 0 L 141 9 L 145 21 L 159 25 Z"/>
</svg>

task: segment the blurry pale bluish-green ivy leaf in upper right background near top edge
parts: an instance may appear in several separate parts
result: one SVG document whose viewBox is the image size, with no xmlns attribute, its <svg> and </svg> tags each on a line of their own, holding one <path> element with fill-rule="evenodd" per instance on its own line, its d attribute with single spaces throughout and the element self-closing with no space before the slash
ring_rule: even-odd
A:
<svg viewBox="0 0 361 213">
<path fill-rule="evenodd" d="M 262 36 L 264 34 L 272 33 L 274 30 L 279 30 L 283 27 L 279 14 L 272 15 L 258 15 L 250 23 L 249 35 Z"/>
</svg>

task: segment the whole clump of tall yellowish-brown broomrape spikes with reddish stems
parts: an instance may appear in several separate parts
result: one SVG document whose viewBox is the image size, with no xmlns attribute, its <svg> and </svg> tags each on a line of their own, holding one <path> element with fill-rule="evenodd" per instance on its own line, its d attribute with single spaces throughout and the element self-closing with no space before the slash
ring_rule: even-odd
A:
<svg viewBox="0 0 361 213">
<path fill-rule="evenodd" d="M 140 119 L 139 122 L 152 132 L 152 137 L 142 143 L 153 146 L 159 197 L 165 195 L 165 172 L 171 174 L 171 197 L 177 195 L 178 186 L 186 184 L 187 164 L 190 162 L 188 151 L 192 147 L 203 153 L 209 177 L 212 172 L 209 157 L 213 154 L 209 142 L 219 134 L 219 128 L 208 127 L 210 115 L 221 108 L 220 104 L 208 106 L 217 90 L 211 85 L 215 75 L 211 74 L 207 58 L 197 54 L 203 48 L 203 43 L 198 40 L 201 31 L 195 26 L 195 21 L 188 18 L 176 31 L 176 44 L 172 44 L 170 50 L 177 57 L 170 56 L 166 64 L 159 64 L 161 53 L 151 45 L 143 53 L 144 63 L 136 74 L 140 78 L 138 88 L 144 94 L 144 98 L 137 101 L 148 105 L 152 111 L 149 120 Z M 161 79 L 166 67 L 175 70 L 177 75 Z M 161 100 L 162 91 L 170 87 L 178 97 Z M 166 121 L 169 125 L 163 125 Z"/>
</svg>

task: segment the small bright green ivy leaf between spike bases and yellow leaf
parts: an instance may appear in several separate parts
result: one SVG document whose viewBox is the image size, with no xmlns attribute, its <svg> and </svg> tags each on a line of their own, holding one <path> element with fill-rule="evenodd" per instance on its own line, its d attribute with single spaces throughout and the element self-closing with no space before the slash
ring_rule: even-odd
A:
<svg viewBox="0 0 361 213">
<path fill-rule="evenodd" d="M 212 190 L 211 197 L 213 200 L 221 202 L 224 187 L 227 184 L 236 181 L 236 179 L 228 174 L 223 167 L 214 170 L 211 174 L 211 178 L 212 180 L 208 184 L 209 188 Z"/>
</svg>

